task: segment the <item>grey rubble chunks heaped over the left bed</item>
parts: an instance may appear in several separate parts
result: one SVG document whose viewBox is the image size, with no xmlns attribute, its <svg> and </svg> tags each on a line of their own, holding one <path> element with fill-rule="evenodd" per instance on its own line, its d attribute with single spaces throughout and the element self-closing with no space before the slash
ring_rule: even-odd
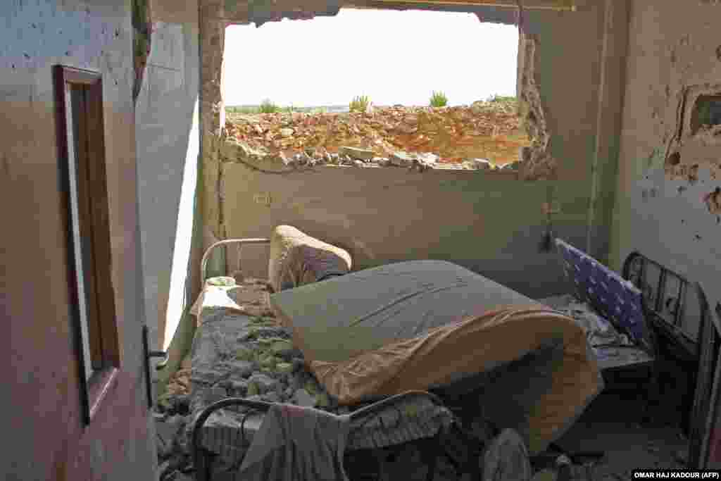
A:
<svg viewBox="0 0 721 481">
<path fill-rule="evenodd" d="M 189 465 L 192 421 L 205 407 L 226 397 L 347 412 L 305 368 L 290 332 L 276 322 L 265 304 L 265 281 L 248 278 L 227 288 L 233 291 L 229 297 L 238 309 L 208 306 L 213 299 L 205 299 L 198 321 L 202 328 L 196 332 L 193 348 L 157 402 L 154 417 L 161 480 L 173 479 Z M 224 411 L 226 415 L 212 415 L 205 425 L 235 428 L 242 415 Z"/>
</svg>

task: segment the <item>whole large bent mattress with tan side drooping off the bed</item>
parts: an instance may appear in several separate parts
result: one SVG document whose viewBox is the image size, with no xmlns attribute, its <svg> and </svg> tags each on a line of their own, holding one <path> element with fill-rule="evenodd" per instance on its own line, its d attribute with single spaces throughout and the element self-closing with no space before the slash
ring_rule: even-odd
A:
<svg viewBox="0 0 721 481">
<path fill-rule="evenodd" d="M 573 319 L 450 262 L 361 270 L 274 294 L 270 302 L 311 371 L 342 404 L 443 387 L 560 346 L 549 369 L 534 373 L 532 365 L 521 376 L 538 386 L 518 393 L 526 396 L 518 404 L 526 405 L 532 452 L 560 436 L 603 386 Z"/>
</svg>

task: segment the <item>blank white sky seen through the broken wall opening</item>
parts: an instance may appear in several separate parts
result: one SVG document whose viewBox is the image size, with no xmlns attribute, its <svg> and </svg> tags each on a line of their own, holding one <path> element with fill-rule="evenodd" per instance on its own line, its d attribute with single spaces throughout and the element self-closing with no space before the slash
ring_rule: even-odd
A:
<svg viewBox="0 0 721 481">
<path fill-rule="evenodd" d="M 450 105 L 516 94 L 518 30 L 473 14 L 342 9 L 226 29 L 226 105 Z"/>
</svg>

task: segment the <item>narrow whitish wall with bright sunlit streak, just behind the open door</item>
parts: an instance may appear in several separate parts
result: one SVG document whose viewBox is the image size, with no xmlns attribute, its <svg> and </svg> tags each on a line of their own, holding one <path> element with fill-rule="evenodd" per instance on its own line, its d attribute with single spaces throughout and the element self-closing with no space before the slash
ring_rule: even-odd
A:
<svg viewBox="0 0 721 481">
<path fill-rule="evenodd" d="M 151 345 L 164 349 L 185 312 L 188 257 L 199 222 L 198 2 L 153 0 L 150 9 L 153 33 L 136 102 L 136 145 L 147 323 Z"/>
</svg>

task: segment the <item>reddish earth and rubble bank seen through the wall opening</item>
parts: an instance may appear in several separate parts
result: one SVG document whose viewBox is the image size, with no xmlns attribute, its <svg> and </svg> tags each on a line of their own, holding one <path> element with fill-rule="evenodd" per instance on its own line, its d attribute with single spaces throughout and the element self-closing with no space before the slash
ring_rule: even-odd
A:
<svg viewBox="0 0 721 481">
<path fill-rule="evenodd" d="M 344 147 L 389 158 L 397 152 L 434 154 L 435 162 L 485 160 L 491 167 L 518 162 L 531 145 L 515 100 L 479 101 L 458 107 L 371 107 L 366 112 L 277 112 L 226 117 L 229 138 L 255 151 L 323 157 Z M 353 157 L 351 155 L 351 157 Z"/>
</svg>

